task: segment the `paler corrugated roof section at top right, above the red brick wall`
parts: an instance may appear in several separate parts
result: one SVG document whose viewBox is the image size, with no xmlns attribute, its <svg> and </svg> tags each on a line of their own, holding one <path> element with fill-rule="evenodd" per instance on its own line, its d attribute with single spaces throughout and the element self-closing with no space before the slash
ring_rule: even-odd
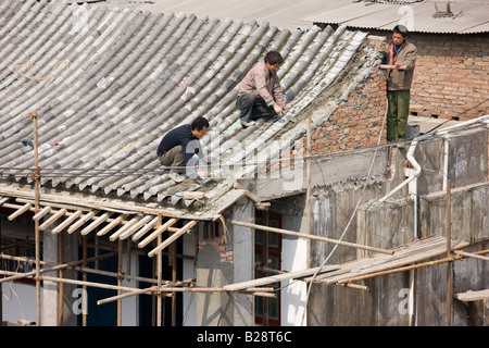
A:
<svg viewBox="0 0 489 348">
<path fill-rule="evenodd" d="M 339 24 L 352 28 L 391 30 L 397 24 L 413 33 L 477 34 L 489 32 L 489 2 L 482 1 L 354 2 L 315 13 L 311 24 Z"/>
</svg>

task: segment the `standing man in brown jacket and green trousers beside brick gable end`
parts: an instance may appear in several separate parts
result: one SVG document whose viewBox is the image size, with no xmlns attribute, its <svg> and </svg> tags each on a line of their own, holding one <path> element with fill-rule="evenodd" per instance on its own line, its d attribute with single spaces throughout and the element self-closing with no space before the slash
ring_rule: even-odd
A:
<svg viewBox="0 0 489 348">
<path fill-rule="evenodd" d="M 408 116 L 410 114 L 410 90 L 413 82 L 417 49 L 406 41 L 408 28 L 397 25 L 389 45 L 389 64 L 396 66 L 388 71 L 387 77 L 387 141 L 404 141 Z M 402 145 L 401 145 L 402 147 Z"/>
</svg>

